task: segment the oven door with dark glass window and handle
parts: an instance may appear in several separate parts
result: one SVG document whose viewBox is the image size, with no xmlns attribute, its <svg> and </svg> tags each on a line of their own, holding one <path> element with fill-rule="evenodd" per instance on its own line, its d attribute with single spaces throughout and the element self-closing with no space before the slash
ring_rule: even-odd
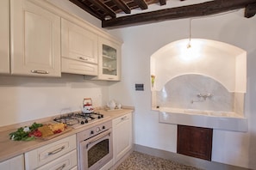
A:
<svg viewBox="0 0 256 170">
<path fill-rule="evenodd" d="M 113 158 L 111 129 L 79 143 L 79 169 L 94 170 Z"/>
</svg>

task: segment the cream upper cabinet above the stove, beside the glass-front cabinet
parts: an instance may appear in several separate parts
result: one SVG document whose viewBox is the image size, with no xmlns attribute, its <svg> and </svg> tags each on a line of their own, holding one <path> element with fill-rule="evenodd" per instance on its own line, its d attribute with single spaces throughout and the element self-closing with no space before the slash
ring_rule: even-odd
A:
<svg viewBox="0 0 256 170">
<path fill-rule="evenodd" d="M 97 76 L 97 34 L 61 18 L 61 57 L 62 72 Z"/>
</svg>

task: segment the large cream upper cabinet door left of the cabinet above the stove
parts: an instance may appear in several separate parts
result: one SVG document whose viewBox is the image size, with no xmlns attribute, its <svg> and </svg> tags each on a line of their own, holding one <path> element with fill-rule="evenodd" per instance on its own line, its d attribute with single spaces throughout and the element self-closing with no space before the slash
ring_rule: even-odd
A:
<svg viewBox="0 0 256 170">
<path fill-rule="evenodd" d="M 60 17 L 28 0 L 10 0 L 11 74 L 60 76 Z"/>
</svg>

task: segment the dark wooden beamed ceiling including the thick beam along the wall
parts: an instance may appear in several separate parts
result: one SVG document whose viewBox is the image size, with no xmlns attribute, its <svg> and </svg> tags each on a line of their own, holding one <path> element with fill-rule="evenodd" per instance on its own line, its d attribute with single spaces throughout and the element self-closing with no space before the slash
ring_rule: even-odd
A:
<svg viewBox="0 0 256 170">
<path fill-rule="evenodd" d="M 159 9 L 144 12 L 150 9 L 150 4 L 163 6 L 174 1 L 184 0 L 69 0 L 81 9 L 94 15 L 102 21 L 102 27 L 115 28 L 166 21 L 181 18 L 191 18 L 203 15 L 214 15 L 234 9 L 245 8 L 245 17 L 253 17 L 256 13 L 256 0 L 214 0 L 196 3 L 171 9 Z M 192 1 L 192 0 L 187 0 Z M 130 15 L 131 11 L 139 9 L 140 14 Z M 118 14 L 122 16 L 117 17 Z"/>
</svg>

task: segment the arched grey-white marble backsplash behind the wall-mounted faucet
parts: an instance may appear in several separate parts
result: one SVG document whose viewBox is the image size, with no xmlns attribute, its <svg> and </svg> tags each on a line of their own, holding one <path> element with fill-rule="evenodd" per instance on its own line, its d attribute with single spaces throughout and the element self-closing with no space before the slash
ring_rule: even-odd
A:
<svg viewBox="0 0 256 170">
<path fill-rule="evenodd" d="M 156 106 L 225 112 L 234 112 L 235 96 L 244 97 L 244 94 L 228 92 L 209 76 L 194 74 L 178 76 L 161 91 L 153 93 L 156 93 Z"/>
</svg>

